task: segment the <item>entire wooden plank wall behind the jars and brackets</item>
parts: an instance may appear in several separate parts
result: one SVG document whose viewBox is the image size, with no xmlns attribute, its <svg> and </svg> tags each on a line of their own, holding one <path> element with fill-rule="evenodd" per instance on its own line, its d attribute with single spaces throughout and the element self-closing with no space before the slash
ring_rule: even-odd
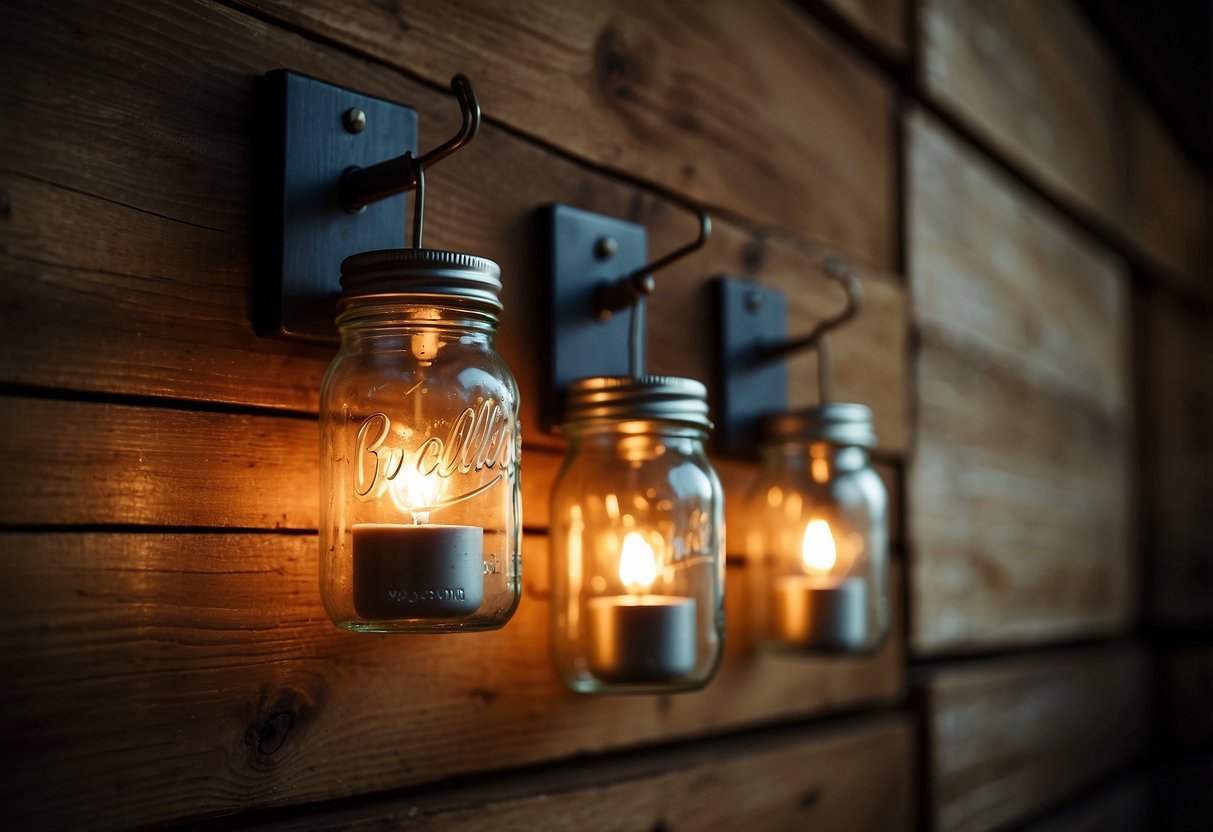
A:
<svg viewBox="0 0 1213 832">
<path fill-rule="evenodd" d="M 0 820 L 1100 828 L 1150 809 L 1134 767 L 1168 725 L 1160 759 L 1198 777 L 1208 513 L 1158 495 L 1207 485 L 1208 192 L 1059 8 L 7 4 Z M 247 309 L 251 82 L 279 67 L 416 107 L 421 147 L 455 127 L 450 76 L 477 85 L 427 243 L 505 275 L 526 535 L 500 632 L 354 636 L 320 608 L 331 351 L 257 338 Z M 759 654 L 731 563 L 706 690 L 575 696 L 547 645 L 535 209 L 643 222 L 660 251 L 694 229 L 671 196 L 716 233 L 660 280 L 650 319 L 679 326 L 651 332 L 654 371 L 711 381 L 716 274 L 787 290 L 801 330 L 841 303 L 822 258 L 859 267 L 836 387 L 876 412 L 901 610 L 876 656 Z M 792 371 L 811 403 L 811 359 Z M 753 468 L 719 469 L 735 505 Z"/>
</svg>

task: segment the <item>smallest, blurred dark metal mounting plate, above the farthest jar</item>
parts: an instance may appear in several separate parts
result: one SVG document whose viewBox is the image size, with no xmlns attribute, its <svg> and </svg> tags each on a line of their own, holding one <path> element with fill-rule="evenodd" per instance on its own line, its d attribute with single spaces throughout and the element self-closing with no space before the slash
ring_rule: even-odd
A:
<svg viewBox="0 0 1213 832">
<path fill-rule="evenodd" d="M 787 336 L 787 298 L 752 280 L 716 280 L 717 340 L 716 443 L 727 454 L 757 445 L 757 422 L 787 410 L 787 363 L 757 360 L 763 346 Z"/>
</svg>

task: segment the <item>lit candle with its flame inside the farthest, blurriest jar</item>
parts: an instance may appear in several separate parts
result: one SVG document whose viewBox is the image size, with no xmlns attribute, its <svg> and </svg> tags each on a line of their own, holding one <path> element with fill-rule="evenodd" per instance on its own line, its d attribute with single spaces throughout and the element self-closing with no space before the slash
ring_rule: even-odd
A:
<svg viewBox="0 0 1213 832">
<path fill-rule="evenodd" d="M 867 643 L 867 581 L 828 575 L 838 560 L 830 524 L 813 519 L 801 549 L 809 575 L 775 581 L 775 636 L 816 650 L 860 650 Z"/>
</svg>

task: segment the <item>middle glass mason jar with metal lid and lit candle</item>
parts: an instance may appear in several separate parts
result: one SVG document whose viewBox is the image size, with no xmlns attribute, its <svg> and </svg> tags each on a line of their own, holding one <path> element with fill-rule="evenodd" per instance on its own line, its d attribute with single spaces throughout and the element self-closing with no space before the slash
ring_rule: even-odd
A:
<svg viewBox="0 0 1213 832">
<path fill-rule="evenodd" d="M 580 693 L 693 690 L 724 639 L 724 500 L 691 378 L 582 378 L 552 490 L 552 644 Z"/>
</svg>

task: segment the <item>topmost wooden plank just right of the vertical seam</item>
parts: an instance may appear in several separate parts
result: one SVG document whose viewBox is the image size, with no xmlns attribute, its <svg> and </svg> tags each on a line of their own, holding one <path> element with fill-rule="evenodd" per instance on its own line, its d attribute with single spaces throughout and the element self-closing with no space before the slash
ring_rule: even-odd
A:
<svg viewBox="0 0 1213 832">
<path fill-rule="evenodd" d="M 1123 81 L 1070 4 L 924 0 L 928 95 L 1060 195 L 1116 211 L 1123 179 Z"/>
</svg>

